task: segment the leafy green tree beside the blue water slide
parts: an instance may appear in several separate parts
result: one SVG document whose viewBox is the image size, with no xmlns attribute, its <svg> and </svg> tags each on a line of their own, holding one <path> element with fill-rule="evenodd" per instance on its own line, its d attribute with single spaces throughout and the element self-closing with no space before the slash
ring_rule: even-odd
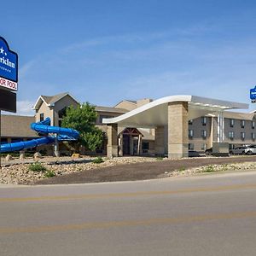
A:
<svg viewBox="0 0 256 256">
<path fill-rule="evenodd" d="M 77 108 L 73 106 L 67 108 L 61 126 L 79 131 L 79 140 L 76 143 L 72 143 L 76 151 L 80 145 L 90 151 L 95 151 L 96 148 L 102 145 L 103 133 L 96 127 L 96 118 L 95 108 L 89 102 L 83 103 Z"/>
</svg>

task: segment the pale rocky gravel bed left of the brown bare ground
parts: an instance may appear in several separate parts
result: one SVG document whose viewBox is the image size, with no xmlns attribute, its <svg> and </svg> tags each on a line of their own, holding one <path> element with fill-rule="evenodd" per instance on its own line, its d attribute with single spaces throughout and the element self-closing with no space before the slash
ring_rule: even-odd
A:
<svg viewBox="0 0 256 256">
<path fill-rule="evenodd" d="M 102 159 L 104 162 L 95 164 L 92 162 L 95 158 L 84 157 L 79 159 L 71 159 L 70 157 L 47 157 L 40 160 L 26 159 L 26 160 L 11 160 L 4 161 L 3 167 L 0 169 L 0 183 L 2 184 L 33 184 L 39 180 L 46 178 L 47 172 L 53 172 L 54 175 L 62 176 L 78 172 L 86 172 L 96 168 L 107 166 L 127 165 L 131 163 L 153 162 L 155 158 L 149 157 L 123 157 L 113 158 L 109 160 L 106 157 Z M 46 172 L 34 172 L 29 170 L 29 166 L 35 162 L 39 162 L 44 166 Z"/>
</svg>

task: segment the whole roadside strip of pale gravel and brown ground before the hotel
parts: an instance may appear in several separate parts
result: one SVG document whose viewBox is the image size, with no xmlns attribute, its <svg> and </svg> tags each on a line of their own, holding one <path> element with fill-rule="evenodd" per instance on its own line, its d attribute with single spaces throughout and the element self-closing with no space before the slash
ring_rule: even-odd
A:
<svg viewBox="0 0 256 256">
<path fill-rule="evenodd" d="M 161 177 L 191 176 L 205 172 L 256 170 L 256 156 L 189 158 L 168 160 L 154 157 L 120 157 L 96 164 L 95 158 L 44 157 L 38 162 L 46 172 L 32 172 L 33 159 L 4 162 L 0 184 L 61 184 L 132 181 Z M 50 172 L 50 173 L 49 173 Z M 47 178 L 48 174 L 55 177 Z"/>
</svg>

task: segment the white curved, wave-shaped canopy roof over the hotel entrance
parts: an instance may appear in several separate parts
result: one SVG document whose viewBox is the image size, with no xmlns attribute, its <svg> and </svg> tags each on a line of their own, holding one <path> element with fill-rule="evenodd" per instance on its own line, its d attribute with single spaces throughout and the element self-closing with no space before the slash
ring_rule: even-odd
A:
<svg viewBox="0 0 256 256">
<path fill-rule="evenodd" d="M 124 127 L 154 128 L 168 124 L 168 103 L 188 102 L 189 119 L 228 109 L 247 109 L 248 104 L 226 102 L 200 96 L 166 96 L 149 102 L 142 107 L 131 110 L 112 119 L 103 119 L 103 124 L 118 124 Z"/>
</svg>

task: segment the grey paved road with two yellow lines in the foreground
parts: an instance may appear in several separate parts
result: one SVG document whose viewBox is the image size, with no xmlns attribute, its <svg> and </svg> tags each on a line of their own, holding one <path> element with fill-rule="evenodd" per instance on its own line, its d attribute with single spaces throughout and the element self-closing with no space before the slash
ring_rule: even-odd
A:
<svg viewBox="0 0 256 256">
<path fill-rule="evenodd" d="M 256 172 L 0 187 L 0 255 L 255 255 Z"/>
</svg>

